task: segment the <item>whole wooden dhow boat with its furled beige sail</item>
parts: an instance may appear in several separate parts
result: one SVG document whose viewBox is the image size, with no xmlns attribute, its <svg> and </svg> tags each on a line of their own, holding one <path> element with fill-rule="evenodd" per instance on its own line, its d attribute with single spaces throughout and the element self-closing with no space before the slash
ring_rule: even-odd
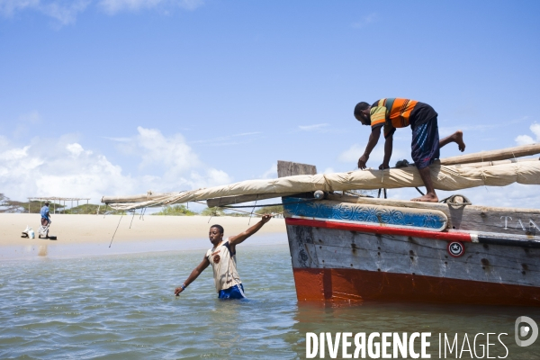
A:
<svg viewBox="0 0 540 360">
<path fill-rule="evenodd" d="M 540 144 L 441 159 L 436 189 L 540 184 Z M 130 210 L 282 197 L 299 301 L 540 306 L 540 210 L 366 197 L 350 190 L 421 186 L 414 166 L 317 175 L 278 162 L 278 179 L 102 202 Z M 379 192 L 381 193 L 381 192 Z"/>
</svg>

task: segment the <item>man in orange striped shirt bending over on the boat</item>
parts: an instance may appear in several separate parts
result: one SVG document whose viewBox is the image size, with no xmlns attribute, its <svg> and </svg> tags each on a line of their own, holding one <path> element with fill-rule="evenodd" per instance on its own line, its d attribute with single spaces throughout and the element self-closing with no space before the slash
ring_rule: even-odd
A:
<svg viewBox="0 0 540 360">
<path fill-rule="evenodd" d="M 389 168 L 390 157 L 392 157 L 393 133 L 396 128 L 410 125 L 412 129 L 412 160 L 419 169 L 420 177 L 427 190 L 425 195 L 414 198 L 412 201 L 438 202 L 429 166 L 435 159 L 439 158 L 439 149 L 446 144 L 455 142 L 459 150 L 464 151 L 465 143 L 462 130 L 457 130 L 445 139 L 439 140 L 437 112 L 427 103 L 397 97 L 378 100 L 371 106 L 369 103 L 357 103 L 355 118 L 363 125 L 372 128 L 364 155 L 358 159 L 358 167 L 361 169 L 365 169 L 365 163 L 379 141 L 381 129 L 384 129 L 385 142 L 383 164 L 379 168 Z"/>
</svg>

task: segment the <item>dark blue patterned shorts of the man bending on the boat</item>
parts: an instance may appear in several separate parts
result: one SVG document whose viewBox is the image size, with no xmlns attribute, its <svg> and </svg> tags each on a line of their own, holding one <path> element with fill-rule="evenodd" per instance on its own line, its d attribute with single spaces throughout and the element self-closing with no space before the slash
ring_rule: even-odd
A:
<svg viewBox="0 0 540 360">
<path fill-rule="evenodd" d="M 412 161 L 419 169 L 428 167 L 440 157 L 437 116 L 412 130 Z"/>
</svg>

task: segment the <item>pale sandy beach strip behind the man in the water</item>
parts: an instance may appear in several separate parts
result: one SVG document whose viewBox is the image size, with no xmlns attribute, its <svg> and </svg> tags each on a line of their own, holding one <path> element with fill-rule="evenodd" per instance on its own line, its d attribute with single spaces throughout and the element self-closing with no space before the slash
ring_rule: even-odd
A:
<svg viewBox="0 0 540 360">
<path fill-rule="evenodd" d="M 214 217 L 208 216 L 156 216 L 145 215 L 144 220 L 139 220 L 139 215 L 134 218 L 131 215 L 64 215 L 51 216 L 52 224 L 49 235 L 56 235 L 57 240 L 38 238 L 40 227 L 40 214 L 0 214 L 0 246 L 19 245 L 43 245 L 50 244 L 95 244 L 111 241 L 129 242 L 141 240 L 167 240 L 167 239 L 198 239 L 207 238 L 208 229 L 212 224 L 220 224 L 225 229 L 225 237 L 236 235 L 249 227 L 249 218 L 237 217 Z M 132 223 L 131 223 L 132 220 Z M 250 225 L 254 225 L 258 217 L 251 219 Z M 120 225 L 119 225 L 120 221 Z M 26 226 L 30 226 L 36 233 L 36 238 L 21 238 Z M 260 234 L 284 233 L 284 219 L 272 219 Z"/>
</svg>

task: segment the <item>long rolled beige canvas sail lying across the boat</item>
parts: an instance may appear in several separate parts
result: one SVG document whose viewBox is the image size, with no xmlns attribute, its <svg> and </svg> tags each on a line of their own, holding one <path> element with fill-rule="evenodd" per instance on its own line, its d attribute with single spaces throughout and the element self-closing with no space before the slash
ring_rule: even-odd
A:
<svg viewBox="0 0 540 360">
<path fill-rule="evenodd" d="M 506 186 L 540 184 L 540 161 L 518 162 L 496 166 L 443 166 L 439 162 L 429 167 L 437 190 L 455 191 L 476 186 Z M 202 201 L 225 196 L 247 194 L 306 193 L 344 190 L 374 190 L 380 188 L 423 186 L 415 166 L 386 170 L 356 170 L 347 173 L 294 175 L 269 180 L 247 180 L 236 184 L 214 186 L 182 193 L 148 193 L 134 196 L 103 196 L 102 202 L 113 209 L 131 210 L 148 206 Z"/>
</svg>

